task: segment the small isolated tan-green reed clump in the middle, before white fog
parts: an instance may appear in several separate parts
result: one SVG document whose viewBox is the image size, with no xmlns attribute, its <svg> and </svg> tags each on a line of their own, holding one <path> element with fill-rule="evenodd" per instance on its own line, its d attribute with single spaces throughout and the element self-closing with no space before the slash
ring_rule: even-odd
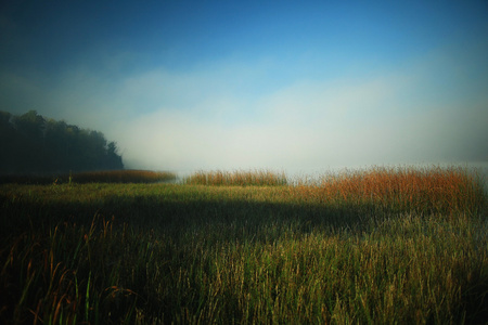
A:
<svg viewBox="0 0 488 325">
<path fill-rule="evenodd" d="M 197 171 L 183 180 L 192 185 L 223 185 L 223 186 L 280 186 L 286 185 L 284 172 L 269 170 L 235 170 L 235 171 Z"/>
</svg>

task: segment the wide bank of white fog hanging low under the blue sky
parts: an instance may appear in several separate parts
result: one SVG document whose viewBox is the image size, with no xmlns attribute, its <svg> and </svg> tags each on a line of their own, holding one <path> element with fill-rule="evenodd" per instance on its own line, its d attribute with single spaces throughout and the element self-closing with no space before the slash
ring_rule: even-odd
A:
<svg viewBox="0 0 488 325">
<path fill-rule="evenodd" d="M 339 80 L 273 83 L 266 64 L 224 63 L 117 80 L 80 68 L 53 89 L 36 79 L 0 81 L 17 80 L 9 84 L 39 100 L 40 114 L 102 131 L 130 168 L 313 171 L 487 160 L 488 98 L 466 92 L 483 87 L 453 65 L 458 58 L 436 57 Z"/>
</svg>

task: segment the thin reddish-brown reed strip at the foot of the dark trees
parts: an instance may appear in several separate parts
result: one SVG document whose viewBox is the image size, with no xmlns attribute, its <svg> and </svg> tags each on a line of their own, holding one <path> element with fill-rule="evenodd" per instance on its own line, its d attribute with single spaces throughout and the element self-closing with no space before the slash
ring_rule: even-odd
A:
<svg viewBox="0 0 488 325">
<path fill-rule="evenodd" d="M 76 183 L 156 183 L 174 181 L 176 180 L 176 174 L 151 170 L 105 170 L 78 172 L 70 176 L 70 178 Z"/>
</svg>

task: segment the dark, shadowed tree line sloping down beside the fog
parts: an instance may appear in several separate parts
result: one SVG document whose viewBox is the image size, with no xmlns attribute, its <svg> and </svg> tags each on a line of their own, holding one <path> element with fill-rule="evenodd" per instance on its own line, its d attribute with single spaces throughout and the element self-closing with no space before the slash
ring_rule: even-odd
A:
<svg viewBox="0 0 488 325">
<path fill-rule="evenodd" d="M 0 173 L 124 169 L 115 142 L 102 132 L 47 119 L 30 110 L 0 110 Z"/>
</svg>

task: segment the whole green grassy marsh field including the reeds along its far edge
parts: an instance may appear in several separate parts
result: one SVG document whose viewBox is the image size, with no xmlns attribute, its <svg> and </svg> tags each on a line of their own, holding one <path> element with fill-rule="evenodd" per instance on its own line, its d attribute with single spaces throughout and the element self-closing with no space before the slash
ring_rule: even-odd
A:
<svg viewBox="0 0 488 325">
<path fill-rule="evenodd" d="M 433 167 L 2 184 L 0 323 L 484 323 L 481 182 Z"/>
</svg>

